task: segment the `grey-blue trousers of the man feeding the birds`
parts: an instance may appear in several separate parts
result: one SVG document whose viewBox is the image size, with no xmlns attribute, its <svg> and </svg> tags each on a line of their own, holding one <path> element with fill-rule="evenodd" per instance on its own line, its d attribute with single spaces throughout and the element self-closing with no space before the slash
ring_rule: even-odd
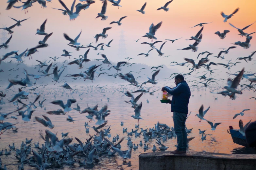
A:
<svg viewBox="0 0 256 170">
<path fill-rule="evenodd" d="M 187 148 L 187 133 L 185 129 L 186 113 L 173 112 L 174 131 L 177 135 L 178 150 Z"/>
</svg>

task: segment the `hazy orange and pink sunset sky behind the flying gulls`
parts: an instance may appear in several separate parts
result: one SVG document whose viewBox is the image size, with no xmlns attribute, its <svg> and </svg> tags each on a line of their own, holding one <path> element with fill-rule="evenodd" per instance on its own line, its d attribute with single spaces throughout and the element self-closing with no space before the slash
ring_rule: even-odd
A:
<svg viewBox="0 0 256 170">
<path fill-rule="evenodd" d="M 68 8 L 71 7 L 73 3 L 72 0 L 63 0 Z M 229 22 L 235 25 L 238 28 L 244 28 L 245 26 L 256 21 L 256 1 L 255 0 L 246 0 L 241 2 L 240 0 L 174 0 L 169 4 L 169 11 L 165 12 L 163 10 L 156 10 L 157 8 L 164 6 L 166 0 L 147 1 L 145 7 L 145 14 L 136 11 L 140 9 L 145 1 L 138 0 L 122 0 L 120 5 L 122 7 L 111 6 L 111 3 L 108 2 L 106 16 L 109 18 L 106 21 L 101 21 L 100 18 L 95 19 L 97 13 L 101 11 L 102 3 L 101 1 L 96 1 L 92 4 L 89 9 L 82 10 L 75 19 L 75 21 L 70 21 L 69 16 L 64 16 L 61 11 L 52 9 L 63 7 L 60 5 L 58 0 L 52 0 L 52 3 L 47 3 L 46 8 L 41 8 L 37 2 L 33 4 L 33 7 L 28 8 L 28 13 L 25 14 L 24 10 L 11 8 L 10 10 L 5 10 L 7 7 L 6 1 L 0 2 L 0 26 L 7 25 L 10 26 L 15 23 L 8 16 L 15 18 L 17 20 L 22 20 L 29 18 L 27 21 L 22 22 L 21 27 L 15 27 L 12 30 L 13 38 L 9 43 L 9 49 L 1 49 L 1 55 L 12 51 L 19 50 L 22 52 L 26 48 L 32 48 L 38 45 L 39 40 L 43 40 L 43 35 L 35 35 L 36 29 L 40 28 L 40 25 L 45 19 L 47 19 L 45 32 L 48 34 L 53 32 L 53 35 L 48 39 L 47 48 L 39 49 L 39 53 L 33 54 L 33 60 L 28 60 L 26 58 L 27 64 L 38 64 L 35 59 L 44 61 L 49 59 L 49 57 L 57 56 L 59 57 L 63 54 L 62 50 L 66 49 L 68 51 L 73 51 L 72 55 L 78 57 L 78 55 L 84 54 L 87 50 L 81 49 L 76 51 L 74 48 L 71 48 L 67 45 L 69 43 L 64 37 L 63 33 L 67 33 L 71 38 L 75 38 L 79 32 L 82 30 L 82 34 L 78 39 L 82 45 L 86 46 L 87 44 L 93 42 L 92 45 L 95 45 L 95 39 L 93 36 L 102 32 L 102 29 L 105 27 L 112 27 L 111 30 L 107 31 L 107 39 L 99 38 L 98 43 L 108 43 L 111 39 L 114 39 L 111 43 L 111 48 L 104 46 L 104 51 L 93 49 L 90 50 L 88 58 L 101 58 L 96 53 L 101 52 L 106 54 L 109 60 L 112 62 L 124 61 L 124 57 L 118 56 L 119 48 L 119 39 L 121 30 L 124 31 L 125 43 L 126 43 L 126 54 L 127 57 L 132 57 L 134 60 L 131 60 L 132 63 L 143 63 L 148 65 L 168 65 L 172 61 L 178 63 L 184 62 L 183 58 L 192 58 L 196 59 L 198 53 L 203 51 L 209 51 L 214 53 L 212 56 L 216 56 L 221 50 L 219 48 L 229 48 L 233 46 L 230 43 L 236 41 L 245 41 L 246 38 L 240 38 L 238 31 L 229 25 Z M 79 3 L 77 0 L 76 4 Z M 22 5 L 22 3 L 16 3 L 16 6 Z M 226 23 L 223 22 L 224 18 L 220 15 L 220 12 L 223 11 L 226 15 L 231 14 L 237 7 L 240 7 L 240 10 L 232 16 Z M 122 20 L 122 25 L 118 26 L 117 24 L 109 24 L 111 21 L 118 21 L 121 17 L 128 16 Z M 156 32 L 157 40 L 165 41 L 164 39 L 177 39 L 183 37 L 180 40 L 175 41 L 173 44 L 171 41 L 167 41 L 162 48 L 163 56 L 170 55 L 168 58 L 163 58 L 158 56 L 156 50 L 152 50 L 148 58 L 144 56 L 137 56 L 139 53 L 146 53 L 150 50 L 150 47 L 145 44 L 140 44 L 142 42 L 151 42 L 151 40 L 146 37 L 142 37 L 149 31 L 149 26 L 153 22 L 157 24 L 163 22 L 160 29 Z M 194 41 L 186 41 L 191 36 L 195 36 L 196 33 L 201 29 L 197 26 L 192 27 L 200 22 L 212 22 L 210 24 L 205 24 L 204 30 L 202 31 L 203 38 L 202 42 L 198 45 L 199 49 L 197 52 L 192 52 L 191 50 L 177 50 L 188 47 L 189 44 L 193 44 Z M 221 33 L 224 30 L 230 30 L 230 33 L 227 34 L 224 40 L 220 39 L 218 35 L 214 33 L 220 31 Z M 1 30 L 2 31 L 2 30 Z M 256 24 L 253 24 L 245 30 L 246 33 L 252 33 L 256 31 Z M 252 36 L 255 36 L 256 33 Z M 8 37 L 10 35 L 7 35 Z M 137 40 L 141 38 L 138 42 Z M 160 48 L 162 43 L 156 44 L 156 48 Z M 228 55 L 225 55 L 227 59 L 235 60 L 237 57 L 246 57 L 251 54 L 252 51 L 255 51 L 256 39 L 252 38 L 251 47 L 248 50 L 243 49 L 240 46 L 237 46 L 236 49 L 231 49 Z M 206 55 L 204 55 L 206 56 Z M 254 56 L 256 60 L 256 56 Z M 66 60 L 66 57 L 61 57 L 60 61 Z M 225 60 L 220 60 L 216 58 L 210 58 L 211 61 L 219 63 L 227 63 Z M 9 61 L 9 59 L 7 59 Z M 247 70 L 255 68 L 255 65 L 252 65 L 255 62 L 245 63 L 242 62 L 236 67 L 230 69 L 231 72 L 241 70 L 243 66 Z M 87 64 L 88 65 L 88 64 Z M 90 65 L 90 64 L 89 64 Z M 254 67 L 253 67 L 254 66 Z M 171 68 L 171 66 L 169 66 Z M 184 68 L 175 66 L 173 67 L 177 70 L 183 70 Z"/>
</svg>

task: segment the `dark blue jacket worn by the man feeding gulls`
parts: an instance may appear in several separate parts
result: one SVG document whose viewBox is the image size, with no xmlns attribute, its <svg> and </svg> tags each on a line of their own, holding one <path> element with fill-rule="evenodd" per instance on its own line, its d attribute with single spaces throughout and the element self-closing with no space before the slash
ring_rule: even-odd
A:
<svg viewBox="0 0 256 170">
<path fill-rule="evenodd" d="M 179 82 L 175 88 L 165 86 L 164 90 L 172 96 L 171 112 L 181 112 L 188 114 L 188 103 L 190 98 L 190 89 L 185 80 Z"/>
</svg>

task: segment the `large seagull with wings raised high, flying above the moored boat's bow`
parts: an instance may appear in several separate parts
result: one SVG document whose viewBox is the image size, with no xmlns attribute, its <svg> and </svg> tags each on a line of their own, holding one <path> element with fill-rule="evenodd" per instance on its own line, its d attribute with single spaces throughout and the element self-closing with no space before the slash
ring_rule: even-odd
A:
<svg viewBox="0 0 256 170">
<path fill-rule="evenodd" d="M 233 80 L 231 78 L 228 78 L 228 86 L 224 86 L 222 88 L 222 89 L 226 89 L 227 91 L 231 92 L 232 93 L 231 97 L 235 93 L 242 94 L 242 91 L 238 91 L 238 90 L 236 90 L 236 88 L 238 87 L 238 85 L 241 81 L 241 78 L 243 77 L 244 72 L 245 72 L 245 68 L 243 68 L 241 70 L 241 72 Z"/>
</svg>

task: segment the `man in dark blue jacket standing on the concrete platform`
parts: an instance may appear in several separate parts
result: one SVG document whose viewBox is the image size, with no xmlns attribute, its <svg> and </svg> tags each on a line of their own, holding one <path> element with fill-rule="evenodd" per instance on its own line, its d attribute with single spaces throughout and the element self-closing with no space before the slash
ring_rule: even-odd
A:
<svg viewBox="0 0 256 170">
<path fill-rule="evenodd" d="M 187 133 L 185 129 L 186 117 L 188 115 L 188 103 L 190 98 L 190 89 L 182 75 L 175 77 L 176 87 L 162 87 L 162 91 L 166 91 L 173 95 L 171 104 L 171 112 L 173 112 L 174 131 L 177 135 L 178 147 L 171 153 L 185 153 L 187 148 Z"/>
</svg>

